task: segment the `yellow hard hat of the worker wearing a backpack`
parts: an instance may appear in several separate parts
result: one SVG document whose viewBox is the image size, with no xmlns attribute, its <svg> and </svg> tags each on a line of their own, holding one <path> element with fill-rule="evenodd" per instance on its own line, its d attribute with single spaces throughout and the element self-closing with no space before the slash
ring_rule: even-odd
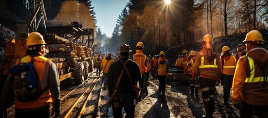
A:
<svg viewBox="0 0 268 118">
<path fill-rule="evenodd" d="M 27 38 L 26 46 L 47 44 L 39 32 L 31 32 Z"/>
</svg>

